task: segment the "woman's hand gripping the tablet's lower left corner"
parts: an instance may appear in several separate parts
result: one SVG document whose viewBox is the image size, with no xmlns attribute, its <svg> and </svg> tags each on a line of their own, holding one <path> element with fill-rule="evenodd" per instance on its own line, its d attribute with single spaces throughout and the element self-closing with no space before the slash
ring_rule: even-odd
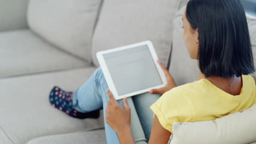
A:
<svg viewBox="0 0 256 144">
<path fill-rule="evenodd" d="M 106 109 L 106 122 L 117 133 L 131 127 L 131 109 L 127 103 L 127 98 L 123 99 L 124 109 L 119 106 L 112 92 L 108 89 L 108 106 Z"/>
</svg>

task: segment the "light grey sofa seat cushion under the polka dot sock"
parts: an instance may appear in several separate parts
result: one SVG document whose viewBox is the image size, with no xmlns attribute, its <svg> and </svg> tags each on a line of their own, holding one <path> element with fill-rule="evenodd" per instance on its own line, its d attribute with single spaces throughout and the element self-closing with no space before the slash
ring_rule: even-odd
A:
<svg viewBox="0 0 256 144">
<path fill-rule="evenodd" d="M 72 118 L 49 103 L 55 85 L 75 91 L 94 72 L 95 67 L 0 79 L 0 136 L 16 144 L 40 136 L 72 133 L 104 127 L 100 118 Z M 2 132 L 3 131 L 3 132 Z M 0 137 L 1 138 L 1 137 Z M 0 139 L 0 143 L 4 143 Z"/>
</svg>

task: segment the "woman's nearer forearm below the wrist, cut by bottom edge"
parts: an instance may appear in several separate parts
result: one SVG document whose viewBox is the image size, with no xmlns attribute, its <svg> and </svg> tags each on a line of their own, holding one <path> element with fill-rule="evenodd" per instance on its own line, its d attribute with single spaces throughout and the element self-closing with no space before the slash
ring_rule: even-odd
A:
<svg viewBox="0 0 256 144">
<path fill-rule="evenodd" d="M 130 125 L 118 131 L 117 134 L 120 144 L 135 144 Z"/>
</svg>

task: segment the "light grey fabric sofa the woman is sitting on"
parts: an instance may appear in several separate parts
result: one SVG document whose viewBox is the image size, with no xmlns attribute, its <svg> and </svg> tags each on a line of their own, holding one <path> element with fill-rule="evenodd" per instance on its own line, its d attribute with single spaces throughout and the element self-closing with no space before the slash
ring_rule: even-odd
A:
<svg viewBox="0 0 256 144">
<path fill-rule="evenodd" d="M 151 40 L 177 85 L 194 81 L 199 69 L 178 13 L 185 3 L 0 0 L 0 143 L 106 143 L 102 110 L 100 118 L 80 120 L 48 100 L 55 85 L 82 85 L 99 66 L 97 51 Z M 256 19 L 248 25 L 255 53 Z"/>
</svg>

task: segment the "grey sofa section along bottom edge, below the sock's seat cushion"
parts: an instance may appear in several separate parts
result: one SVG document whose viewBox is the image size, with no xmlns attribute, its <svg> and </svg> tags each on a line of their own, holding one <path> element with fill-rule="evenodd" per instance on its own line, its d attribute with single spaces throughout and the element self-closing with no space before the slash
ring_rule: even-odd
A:
<svg viewBox="0 0 256 144">
<path fill-rule="evenodd" d="M 26 144 L 105 144 L 106 136 L 104 129 L 92 131 L 80 131 L 77 133 L 51 135 L 38 137 L 28 141 Z"/>
</svg>

